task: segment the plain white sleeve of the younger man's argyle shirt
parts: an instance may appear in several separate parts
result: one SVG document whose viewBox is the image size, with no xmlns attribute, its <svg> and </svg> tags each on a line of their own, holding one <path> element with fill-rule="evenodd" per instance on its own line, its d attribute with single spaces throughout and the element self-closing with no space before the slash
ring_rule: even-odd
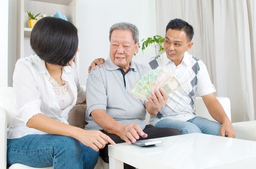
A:
<svg viewBox="0 0 256 169">
<path fill-rule="evenodd" d="M 216 92 L 214 85 L 211 83 L 206 65 L 200 61 L 199 67 L 200 70 L 198 72 L 198 81 L 197 81 L 197 92 L 199 96 L 205 96 L 210 93 Z"/>
</svg>

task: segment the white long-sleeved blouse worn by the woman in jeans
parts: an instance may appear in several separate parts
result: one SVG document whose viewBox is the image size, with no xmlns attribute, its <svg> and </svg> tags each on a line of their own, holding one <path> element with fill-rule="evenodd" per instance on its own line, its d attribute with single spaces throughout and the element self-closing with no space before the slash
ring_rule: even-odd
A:
<svg viewBox="0 0 256 169">
<path fill-rule="evenodd" d="M 62 79 L 68 84 L 72 101 L 61 110 L 53 86 L 49 82 L 50 75 L 39 56 L 29 56 L 17 61 L 13 86 L 16 93 L 16 118 L 8 127 L 7 138 L 20 138 L 28 134 L 45 134 L 26 126 L 28 120 L 41 113 L 57 121 L 68 124 L 68 113 L 76 102 L 85 100 L 85 91 L 80 87 L 76 65 L 64 66 Z"/>
</svg>

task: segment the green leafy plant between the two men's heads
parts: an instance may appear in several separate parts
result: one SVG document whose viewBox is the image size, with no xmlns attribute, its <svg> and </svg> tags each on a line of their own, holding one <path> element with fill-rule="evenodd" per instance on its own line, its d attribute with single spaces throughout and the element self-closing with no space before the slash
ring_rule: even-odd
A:
<svg viewBox="0 0 256 169">
<path fill-rule="evenodd" d="M 156 56 L 160 55 L 164 48 L 162 47 L 162 43 L 164 42 L 164 38 L 160 35 L 155 35 L 153 37 L 148 37 L 146 40 L 142 40 L 142 52 L 148 47 L 153 46 L 155 48 Z M 159 48 L 159 50 L 158 50 Z M 158 51 L 158 52 L 157 52 Z"/>
</svg>

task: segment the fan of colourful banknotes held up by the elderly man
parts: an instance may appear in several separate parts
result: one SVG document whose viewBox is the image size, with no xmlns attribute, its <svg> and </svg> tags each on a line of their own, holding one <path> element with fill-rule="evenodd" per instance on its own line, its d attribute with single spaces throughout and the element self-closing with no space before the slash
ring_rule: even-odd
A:
<svg viewBox="0 0 256 169">
<path fill-rule="evenodd" d="M 135 98 L 146 100 L 150 92 L 155 88 L 162 87 L 167 94 L 180 87 L 180 83 L 174 74 L 163 72 L 162 69 L 151 70 L 132 87 L 131 93 Z"/>
</svg>

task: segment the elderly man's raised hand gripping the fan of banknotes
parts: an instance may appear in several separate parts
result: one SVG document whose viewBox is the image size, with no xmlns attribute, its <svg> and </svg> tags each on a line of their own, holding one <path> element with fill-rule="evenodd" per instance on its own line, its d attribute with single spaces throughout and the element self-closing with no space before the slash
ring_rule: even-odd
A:
<svg viewBox="0 0 256 169">
<path fill-rule="evenodd" d="M 151 91 L 151 96 L 147 97 L 146 109 L 150 114 L 156 114 L 162 108 L 168 100 L 168 94 L 163 88 L 154 89 Z"/>
</svg>

